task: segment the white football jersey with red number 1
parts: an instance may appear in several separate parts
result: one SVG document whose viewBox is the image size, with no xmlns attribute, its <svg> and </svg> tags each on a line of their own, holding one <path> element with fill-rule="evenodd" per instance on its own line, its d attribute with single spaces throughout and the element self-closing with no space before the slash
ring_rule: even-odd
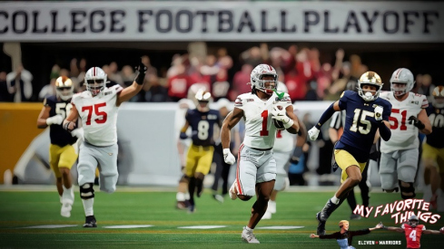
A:
<svg viewBox="0 0 444 249">
<path fill-rule="evenodd" d="M 272 148 L 276 137 L 276 127 L 271 119 L 271 111 L 278 96 L 273 92 L 270 99 L 262 101 L 256 94 L 244 93 L 234 102 L 234 107 L 243 110 L 245 138 L 243 144 L 250 148 Z M 290 96 L 285 93 L 280 101 L 283 108 L 291 105 Z"/>
</svg>

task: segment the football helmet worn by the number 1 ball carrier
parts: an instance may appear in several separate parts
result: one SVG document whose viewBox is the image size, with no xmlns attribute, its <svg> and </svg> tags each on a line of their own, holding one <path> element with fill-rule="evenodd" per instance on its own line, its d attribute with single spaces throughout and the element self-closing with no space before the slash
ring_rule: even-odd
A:
<svg viewBox="0 0 444 249">
<path fill-rule="evenodd" d="M 272 76 L 272 80 L 263 80 L 264 76 Z M 273 93 L 278 87 L 278 73 L 276 70 L 268 64 L 259 64 L 253 70 L 250 75 L 252 81 L 252 87 L 259 91 L 263 91 L 269 95 Z"/>
</svg>

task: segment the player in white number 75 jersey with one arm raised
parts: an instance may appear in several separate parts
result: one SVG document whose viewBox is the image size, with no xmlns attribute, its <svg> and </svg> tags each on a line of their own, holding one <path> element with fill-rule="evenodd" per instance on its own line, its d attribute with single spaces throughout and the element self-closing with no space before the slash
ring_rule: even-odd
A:
<svg viewBox="0 0 444 249">
<path fill-rule="evenodd" d="M 97 227 L 94 217 L 94 177 L 99 168 L 100 190 L 113 193 L 119 176 L 117 172 L 117 110 L 143 87 L 146 66 L 140 62 L 138 75 L 127 88 L 120 85 L 106 87 L 106 73 L 99 67 L 90 68 L 84 75 L 86 91 L 74 94 L 73 109 L 64 120 L 64 129 L 72 131 L 74 120 L 80 118 L 84 128 L 84 142 L 80 146 L 77 164 L 80 197 L 84 204 L 84 227 Z"/>
</svg>

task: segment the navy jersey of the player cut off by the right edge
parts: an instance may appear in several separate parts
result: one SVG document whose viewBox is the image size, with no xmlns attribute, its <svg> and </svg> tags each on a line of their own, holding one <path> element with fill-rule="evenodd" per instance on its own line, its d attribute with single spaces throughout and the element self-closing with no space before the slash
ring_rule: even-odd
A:
<svg viewBox="0 0 444 249">
<path fill-rule="evenodd" d="M 427 135 L 427 143 L 434 148 L 444 148 L 444 108 L 429 105 L 426 111 L 432 129 Z"/>
</svg>

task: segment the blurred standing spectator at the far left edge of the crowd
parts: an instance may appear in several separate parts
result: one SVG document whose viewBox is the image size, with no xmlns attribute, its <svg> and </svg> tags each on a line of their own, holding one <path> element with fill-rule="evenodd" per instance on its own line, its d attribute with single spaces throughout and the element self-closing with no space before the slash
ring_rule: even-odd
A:
<svg viewBox="0 0 444 249">
<path fill-rule="evenodd" d="M 6 75 L 7 90 L 14 95 L 15 102 L 32 101 L 33 74 L 24 69 L 22 63 L 15 67 L 15 71 Z"/>
</svg>

